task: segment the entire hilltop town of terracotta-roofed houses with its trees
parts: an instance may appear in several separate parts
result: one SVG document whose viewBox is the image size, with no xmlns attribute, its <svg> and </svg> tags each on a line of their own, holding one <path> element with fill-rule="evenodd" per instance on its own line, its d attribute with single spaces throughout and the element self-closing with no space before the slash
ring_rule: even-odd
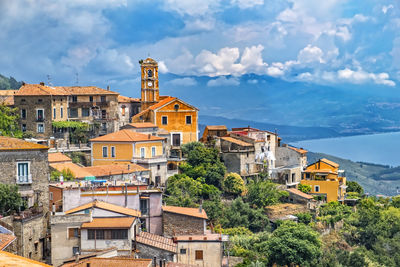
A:
<svg viewBox="0 0 400 267">
<path fill-rule="evenodd" d="M 1 264 L 366 266 L 385 247 L 382 232 L 362 231 L 379 220 L 361 212 L 397 227 L 398 199 L 368 198 L 339 164 L 307 162 L 272 129 L 200 133 L 199 109 L 162 95 L 157 61 L 140 66 L 140 98 L 0 91 Z"/>
</svg>

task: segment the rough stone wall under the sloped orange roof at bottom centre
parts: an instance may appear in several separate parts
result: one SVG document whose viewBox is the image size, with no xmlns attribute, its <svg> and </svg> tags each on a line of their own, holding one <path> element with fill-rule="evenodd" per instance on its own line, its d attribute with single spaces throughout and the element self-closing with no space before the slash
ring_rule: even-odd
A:
<svg viewBox="0 0 400 267">
<path fill-rule="evenodd" d="M 163 233 L 166 237 L 179 235 L 203 235 L 205 223 L 204 219 L 163 212 Z"/>
</svg>

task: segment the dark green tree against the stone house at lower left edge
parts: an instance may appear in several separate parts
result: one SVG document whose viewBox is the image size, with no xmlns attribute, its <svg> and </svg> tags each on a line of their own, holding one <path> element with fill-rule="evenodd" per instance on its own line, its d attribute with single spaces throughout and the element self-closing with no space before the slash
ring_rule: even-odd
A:
<svg viewBox="0 0 400 267">
<path fill-rule="evenodd" d="M 23 205 L 18 186 L 0 184 L 0 215 L 8 216 Z"/>
</svg>

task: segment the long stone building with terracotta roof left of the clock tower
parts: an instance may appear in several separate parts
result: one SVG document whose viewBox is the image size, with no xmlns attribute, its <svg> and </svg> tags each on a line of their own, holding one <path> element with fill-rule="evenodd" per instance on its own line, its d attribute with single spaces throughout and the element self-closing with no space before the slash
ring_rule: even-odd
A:
<svg viewBox="0 0 400 267">
<path fill-rule="evenodd" d="M 13 106 L 20 110 L 23 132 L 30 132 L 43 142 L 53 137 L 58 139 L 59 146 L 63 146 L 69 131 L 54 128 L 53 122 L 87 122 L 94 136 L 116 131 L 119 126 L 118 96 L 116 92 L 94 86 L 64 87 L 40 83 L 23 84 L 10 97 Z"/>
</svg>

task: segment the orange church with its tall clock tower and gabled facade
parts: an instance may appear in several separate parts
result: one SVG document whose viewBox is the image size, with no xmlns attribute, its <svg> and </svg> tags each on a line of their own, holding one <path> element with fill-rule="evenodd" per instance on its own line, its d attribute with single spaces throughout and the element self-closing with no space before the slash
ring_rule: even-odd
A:
<svg viewBox="0 0 400 267">
<path fill-rule="evenodd" d="M 141 112 L 132 122 L 150 122 L 170 133 L 169 144 L 179 147 L 198 141 L 198 109 L 171 96 L 160 96 L 158 64 L 147 58 L 141 62 Z"/>
</svg>

